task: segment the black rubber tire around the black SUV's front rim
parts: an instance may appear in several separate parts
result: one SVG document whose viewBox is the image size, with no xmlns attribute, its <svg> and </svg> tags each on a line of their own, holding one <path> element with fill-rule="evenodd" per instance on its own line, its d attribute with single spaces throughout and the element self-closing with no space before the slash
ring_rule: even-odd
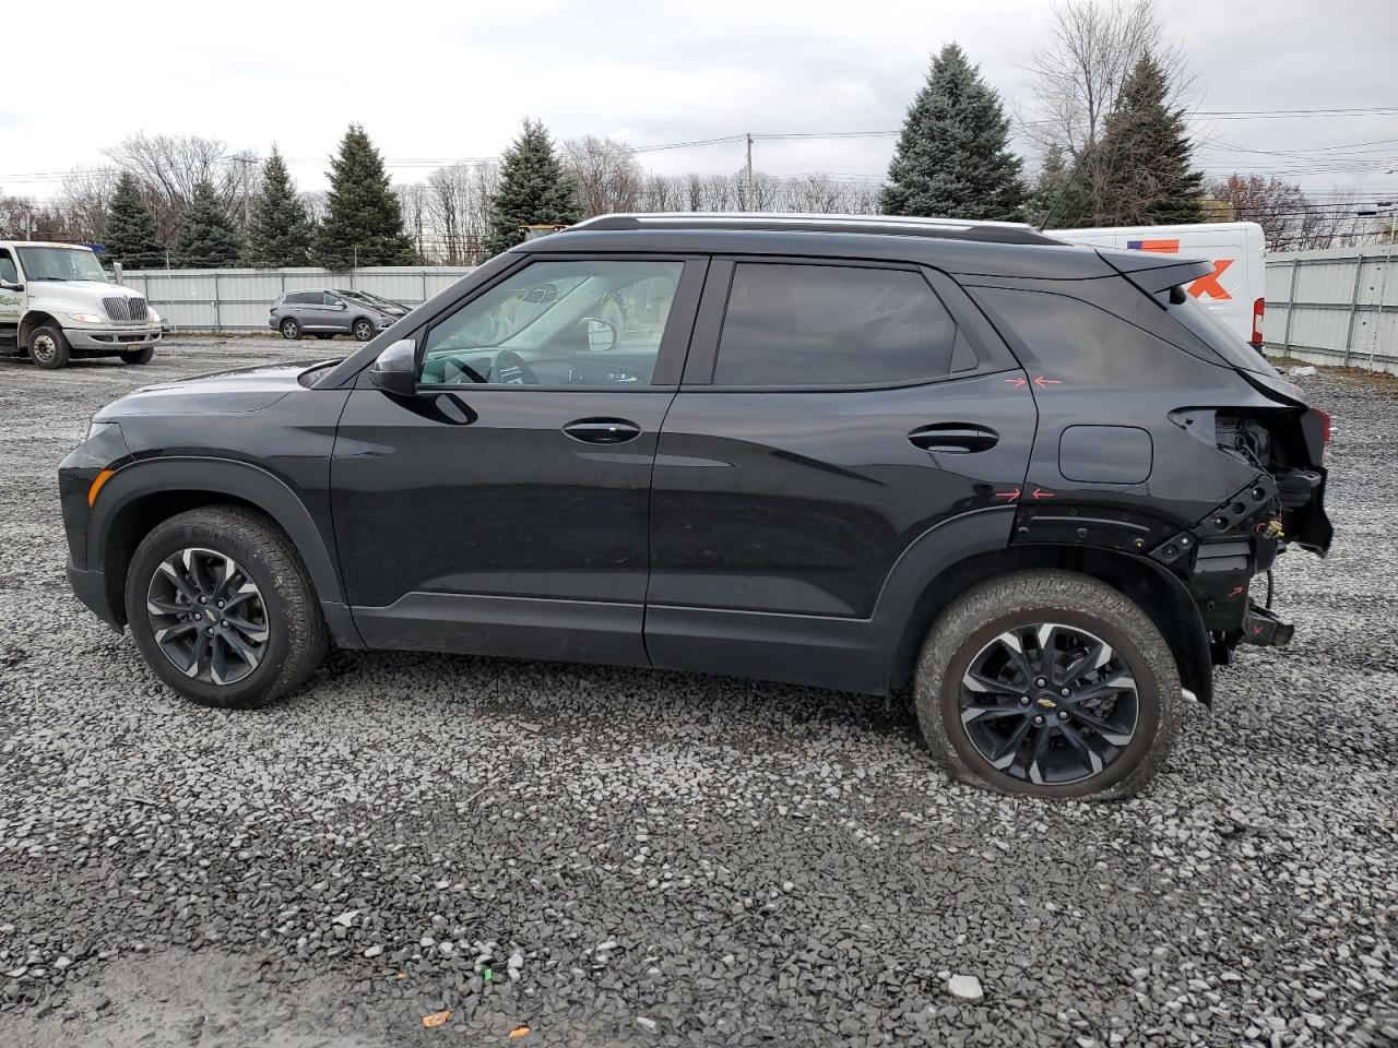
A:
<svg viewBox="0 0 1398 1048">
<path fill-rule="evenodd" d="M 261 613 L 254 612 L 249 618 L 260 620 L 266 640 L 260 661 L 240 679 L 228 683 L 197 679 L 176 665 L 157 640 L 157 625 L 147 611 L 147 599 L 158 584 L 154 580 L 166 558 L 178 558 L 186 549 L 231 558 L 239 569 L 233 577 L 256 587 Z M 208 572 L 204 574 L 210 577 Z M 232 618 L 231 612 L 217 612 L 207 605 L 196 608 L 190 602 L 187 606 L 212 615 L 207 629 L 218 625 L 221 613 Z M 235 506 L 190 510 L 151 530 L 137 546 L 127 572 L 126 616 L 137 647 L 157 676 L 190 701 L 218 708 L 263 706 L 291 692 L 324 661 L 329 647 L 320 604 L 291 541 L 266 517 Z M 164 616 L 162 622 L 169 622 L 169 618 Z M 199 615 L 190 618 L 203 622 Z M 196 626 L 196 636 L 200 632 L 201 627 Z M 199 664 L 197 657 L 193 664 Z"/>
</svg>

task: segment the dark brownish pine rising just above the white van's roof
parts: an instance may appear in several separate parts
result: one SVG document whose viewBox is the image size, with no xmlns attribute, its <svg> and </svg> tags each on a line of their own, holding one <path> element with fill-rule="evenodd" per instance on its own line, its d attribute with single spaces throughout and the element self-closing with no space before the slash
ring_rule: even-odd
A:
<svg viewBox="0 0 1398 1048">
<path fill-rule="evenodd" d="M 1099 225 L 1204 221 L 1204 175 L 1192 168 L 1184 110 L 1172 109 L 1169 95 L 1165 67 L 1146 52 L 1103 129 Z"/>
</svg>

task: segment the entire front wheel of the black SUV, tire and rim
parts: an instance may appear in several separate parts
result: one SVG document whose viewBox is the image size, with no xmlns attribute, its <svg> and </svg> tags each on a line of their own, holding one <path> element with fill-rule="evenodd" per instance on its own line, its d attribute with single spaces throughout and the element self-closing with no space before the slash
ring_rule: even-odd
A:
<svg viewBox="0 0 1398 1048">
<path fill-rule="evenodd" d="M 207 506 L 157 524 L 126 580 L 126 618 L 147 664 L 200 706 L 285 694 L 326 657 L 306 567 L 266 517 Z"/>
</svg>

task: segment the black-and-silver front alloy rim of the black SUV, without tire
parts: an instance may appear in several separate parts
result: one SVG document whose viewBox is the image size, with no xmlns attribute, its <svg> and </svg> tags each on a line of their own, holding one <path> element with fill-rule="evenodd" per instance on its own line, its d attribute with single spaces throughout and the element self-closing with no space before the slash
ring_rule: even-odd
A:
<svg viewBox="0 0 1398 1048">
<path fill-rule="evenodd" d="M 189 548 L 161 560 L 145 592 L 151 634 L 186 676 L 231 685 L 267 651 L 267 605 L 231 556 Z"/>
</svg>

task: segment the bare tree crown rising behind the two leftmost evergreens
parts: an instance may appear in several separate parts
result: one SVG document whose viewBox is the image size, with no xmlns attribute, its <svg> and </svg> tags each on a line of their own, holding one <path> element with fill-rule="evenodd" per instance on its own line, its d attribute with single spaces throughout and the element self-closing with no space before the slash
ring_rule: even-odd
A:
<svg viewBox="0 0 1398 1048">
<path fill-rule="evenodd" d="M 245 168 L 232 162 L 228 144 L 218 138 L 141 131 L 103 152 L 150 194 L 162 240 L 173 235 L 200 182 L 214 186 L 225 207 L 242 201 L 247 187 Z"/>
</svg>

